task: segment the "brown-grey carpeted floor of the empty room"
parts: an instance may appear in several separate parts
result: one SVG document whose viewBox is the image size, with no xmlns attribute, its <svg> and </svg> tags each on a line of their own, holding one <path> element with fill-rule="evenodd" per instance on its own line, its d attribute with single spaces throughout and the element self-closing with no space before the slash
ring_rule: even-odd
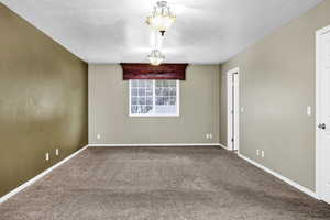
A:
<svg viewBox="0 0 330 220">
<path fill-rule="evenodd" d="M 87 148 L 1 220 L 330 219 L 330 206 L 217 147 Z"/>
</svg>

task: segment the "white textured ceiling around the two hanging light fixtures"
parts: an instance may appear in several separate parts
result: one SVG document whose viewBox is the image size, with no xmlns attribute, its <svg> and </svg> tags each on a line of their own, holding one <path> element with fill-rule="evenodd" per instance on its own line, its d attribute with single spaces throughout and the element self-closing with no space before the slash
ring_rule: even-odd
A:
<svg viewBox="0 0 330 220">
<path fill-rule="evenodd" d="M 168 0 L 167 63 L 221 63 L 322 0 Z M 156 0 L 0 0 L 88 63 L 144 63 Z"/>
</svg>

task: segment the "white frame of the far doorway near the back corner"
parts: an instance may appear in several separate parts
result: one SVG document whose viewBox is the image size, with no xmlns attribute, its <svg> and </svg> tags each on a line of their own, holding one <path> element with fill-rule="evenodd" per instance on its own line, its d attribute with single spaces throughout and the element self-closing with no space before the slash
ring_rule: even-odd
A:
<svg viewBox="0 0 330 220">
<path fill-rule="evenodd" d="M 234 92 L 232 90 L 232 75 L 235 76 Z M 234 94 L 234 97 L 233 97 Z M 234 124 L 232 123 L 232 100 L 234 100 Z M 234 125 L 234 134 L 233 134 Z M 234 145 L 231 139 L 234 138 Z M 227 72 L 227 148 L 240 152 L 240 68 L 235 67 Z"/>
</svg>

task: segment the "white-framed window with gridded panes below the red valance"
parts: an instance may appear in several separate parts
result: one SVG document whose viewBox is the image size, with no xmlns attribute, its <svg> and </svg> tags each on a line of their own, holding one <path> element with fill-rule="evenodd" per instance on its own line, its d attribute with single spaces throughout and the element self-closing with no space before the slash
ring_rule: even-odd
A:
<svg viewBox="0 0 330 220">
<path fill-rule="evenodd" d="M 130 116 L 179 116 L 179 80 L 131 79 Z"/>
</svg>

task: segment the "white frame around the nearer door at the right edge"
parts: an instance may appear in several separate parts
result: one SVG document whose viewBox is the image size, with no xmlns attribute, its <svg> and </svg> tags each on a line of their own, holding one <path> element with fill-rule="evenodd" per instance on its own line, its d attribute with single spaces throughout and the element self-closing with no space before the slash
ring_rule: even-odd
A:
<svg viewBox="0 0 330 220">
<path fill-rule="evenodd" d="M 316 32 L 316 195 L 322 199 L 322 190 L 321 190 L 321 135 L 318 129 L 318 124 L 321 122 L 321 100 L 320 100 L 320 89 L 321 89 L 321 57 L 320 57 L 320 47 L 321 45 L 321 36 L 326 33 L 330 32 L 330 25 L 326 26 Z"/>
</svg>

